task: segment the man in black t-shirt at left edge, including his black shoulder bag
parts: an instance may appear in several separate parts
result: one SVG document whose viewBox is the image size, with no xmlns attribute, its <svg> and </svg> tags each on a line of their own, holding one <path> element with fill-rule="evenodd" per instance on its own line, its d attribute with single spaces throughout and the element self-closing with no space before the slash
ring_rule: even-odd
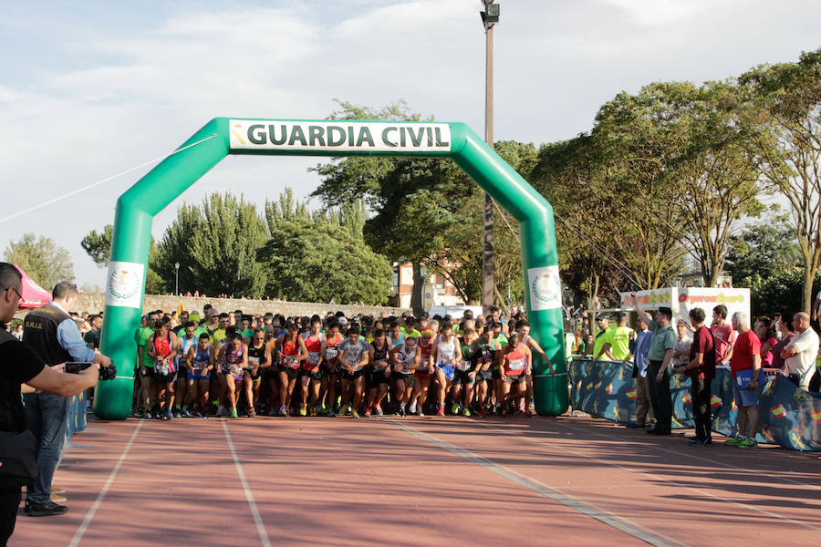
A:
<svg viewBox="0 0 821 547">
<path fill-rule="evenodd" d="M 8 324 L 22 301 L 20 273 L 10 263 L 0 263 L 0 324 Z M 15 530 L 21 487 L 36 475 L 34 437 L 26 431 L 21 384 L 70 397 L 97 385 L 99 370 L 90 366 L 78 375 L 59 366 L 46 366 L 29 346 L 0 329 L 0 545 Z M 28 391 L 32 391 L 26 386 Z M 65 419 L 64 419 L 65 421 Z"/>
</svg>

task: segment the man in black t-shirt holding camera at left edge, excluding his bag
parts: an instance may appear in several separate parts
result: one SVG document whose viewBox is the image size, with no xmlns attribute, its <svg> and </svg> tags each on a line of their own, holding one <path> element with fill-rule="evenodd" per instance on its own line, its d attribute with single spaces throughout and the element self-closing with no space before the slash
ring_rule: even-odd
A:
<svg viewBox="0 0 821 547">
<path fill-rule="evenodd" d="M 5 326 L 15 316 L 22 293 L 22 278 L 16 267 L 0 263 L 0 324 Z M 108 357 L 100 361 L 110 364 Z M 28 392 L 34 391 L 33 387 L 71 397 L 96 386 L 98 377 L 99 366 L 89 366 L 78 375 L 66 374 L 60 366 L 46 366 L 30 347 L 0 329 L 0 431 L 22 433 L 26 430 L 21 384 L 28 385 Z M 0 467 L 3 463 L 0 461 Z M 0 545 L 5 545 L 15 530 L 21 487 L 19 482 L 0 474 Z"/>
</svg>

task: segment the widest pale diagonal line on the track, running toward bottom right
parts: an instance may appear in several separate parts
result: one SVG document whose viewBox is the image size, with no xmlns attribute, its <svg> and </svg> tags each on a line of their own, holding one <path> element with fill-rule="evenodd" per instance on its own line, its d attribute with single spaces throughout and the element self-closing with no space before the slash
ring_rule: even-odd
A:
<svg viewBox="0 0 821 547">
<path fill-rule="evenodd" d="M 650 545 L 656 545 L 659 547 L 672 547 L 674 545 L 684 545 L 684 543 L 672 540 L 668 537 L 661 535 L 658 532 L 647 531 L 639 527 L 636 523 L 630 522 L 624 519 L 623 517 L 618 517 L 612 513 L 609 513 L 608 511 L 603 511 L 587 501 L 579 501 L 577 500 L 577 498 L 574 498 L 573 496 L 567 494 L 566 492 L 563 492 L 562 490 L 557 489 L 556 487 L 547 485 L 544 482 L 535 480 L 531 477 L 527 477 L 526 475 L 511 470 L 502 464 L 496 463 L 491 459 L 483 458 L 482 456 L 473 454 L 473 452 L 471 452 L 470 450 L 462 449 L 443 440 L 431 437 L 430 435 L 422 433 L 421 431 L 411 428 L 411 426 L 408 426 L 404 423 L 400 423 L 397 420 L 391 418 L 382 419 L 383 421 L 386 421 L 391 425 L 410 433 L 413 437 L 416 437 L 417 439 L 424 440 L 435 447 L 450 452 L 454 456 L 459 456 L 460 458 L 466 459 L 471 463 L 480 465 L 484 469 L 492 471 L 500 477 L 503 477 L 504 479 L 511 480 L 512 482 L 515 482 L 520 486 L 524 486 L 526 489 L 532 490 L 541 496 L 549 498 L 553 501 L 557 501 L 562 505 L 569 507 L 570 509 L 585 514 L 593 519 L 596 519 L 597 521 L 603 522 L 604 524 L 616 528 L 621 532 L 625 532 L 642 542 L 650 543 Z"/>
</svg>

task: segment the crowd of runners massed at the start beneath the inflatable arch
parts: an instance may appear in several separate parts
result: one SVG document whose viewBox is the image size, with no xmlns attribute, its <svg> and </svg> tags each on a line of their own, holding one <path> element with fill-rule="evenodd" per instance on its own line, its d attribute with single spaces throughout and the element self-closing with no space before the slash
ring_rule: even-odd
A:
<svg viewBox="0 0 821 547">
<path fill-rule="evenodd" d="M 203 318 L 151 312 L 137 333 L 134 416 L 359 416 L 535 413 L 524 313 Z M 553 367 L 549 366 L 550 374 Z"/>
</svg>

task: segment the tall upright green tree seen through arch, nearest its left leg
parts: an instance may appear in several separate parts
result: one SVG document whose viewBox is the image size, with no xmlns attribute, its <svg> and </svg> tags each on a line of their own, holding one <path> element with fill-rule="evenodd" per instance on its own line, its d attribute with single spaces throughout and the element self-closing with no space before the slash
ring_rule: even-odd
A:
<svg viewBox="0 0 821 547">
<path fill-rule="evenodd" d="M 201 207 L 177 210 L 162 236 L 158 267 L 173 273 L 173 264 L 180 263 L 181 291 L 261 296 L 265 279 L 256 253 L 266 239 L 265 222 L 253 203 L 213 193 Z"/>
</svg>

